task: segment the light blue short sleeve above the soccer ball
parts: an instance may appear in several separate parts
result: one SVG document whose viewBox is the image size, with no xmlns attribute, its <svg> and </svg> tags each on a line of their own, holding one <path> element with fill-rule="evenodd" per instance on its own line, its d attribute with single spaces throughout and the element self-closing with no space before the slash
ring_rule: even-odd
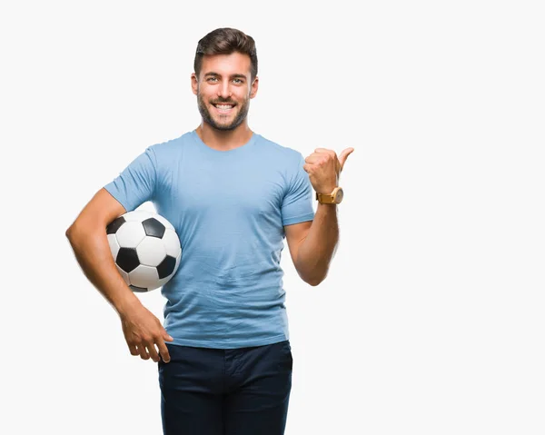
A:
<svg viewBox="0 0 545 435">
<path fill-rule="evenodd" d="M 104 186 L 127 212 L 151 201 L 156 181 L 156 159 L 152 147 L 146 148 L 111 183 Z"/>
</svg>

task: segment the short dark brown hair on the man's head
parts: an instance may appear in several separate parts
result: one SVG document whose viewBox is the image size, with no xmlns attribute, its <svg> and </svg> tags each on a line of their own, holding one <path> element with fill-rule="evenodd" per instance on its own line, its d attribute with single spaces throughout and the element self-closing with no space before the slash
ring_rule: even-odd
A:
<svg viewBox="0 0 545 435">
<path fill-rule="evenodd" d="M 251 60 L 250 74 L 252 81 L 257 75 L 257 52 L 255 51 L 255 41 L 250 35 L 230 27 L 215 29 L 208 35 L 205 35 L 197 44 L 193 68 L 197 77 L 201 74 L 201 65 L 203 64 L 203 55 L 213 54 L 248 54 Z"/>
</svg>

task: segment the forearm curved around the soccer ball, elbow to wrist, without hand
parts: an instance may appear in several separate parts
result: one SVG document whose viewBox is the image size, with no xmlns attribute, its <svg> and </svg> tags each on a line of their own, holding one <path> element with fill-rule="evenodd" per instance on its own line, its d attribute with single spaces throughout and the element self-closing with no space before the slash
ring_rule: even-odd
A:
<svg viewBox="0 0 545 435">
<path fill-rule="evenodd" d="M 66 236 L 84 275 L 120 315 L 141 304 L 115 267 L 106 232 L 71 229 Z"/>
</svg>

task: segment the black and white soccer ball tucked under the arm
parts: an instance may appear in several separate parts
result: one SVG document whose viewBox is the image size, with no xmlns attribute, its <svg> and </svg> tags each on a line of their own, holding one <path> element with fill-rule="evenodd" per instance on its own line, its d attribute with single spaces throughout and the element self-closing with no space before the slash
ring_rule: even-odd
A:
<svg viewBox="0 0 545 435">
<path fill-rule="evenodd" d="M 127 212 L 106 226 L 117 270 L 133 292 L 149 292 L 169 282 L 182 258 L 173 224 L 157 213 Z"/>
</svg>

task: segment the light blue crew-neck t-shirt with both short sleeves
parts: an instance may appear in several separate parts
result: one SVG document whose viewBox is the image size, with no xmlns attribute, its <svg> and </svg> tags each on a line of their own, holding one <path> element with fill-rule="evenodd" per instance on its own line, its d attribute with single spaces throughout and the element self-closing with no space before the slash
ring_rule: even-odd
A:
<svg viewBox="0 0 545 435">
<path fill-rule="evenodd" d="M 236 349 L 289 340 L 284 225 L 312 221 L 302 154 L 253 133 L 229 151 L 195 131 L 145 149 L 104 188 L 127 212 L 150 201 L 180 237 L 163 285 L 173 344 Z"/>
</svg>

